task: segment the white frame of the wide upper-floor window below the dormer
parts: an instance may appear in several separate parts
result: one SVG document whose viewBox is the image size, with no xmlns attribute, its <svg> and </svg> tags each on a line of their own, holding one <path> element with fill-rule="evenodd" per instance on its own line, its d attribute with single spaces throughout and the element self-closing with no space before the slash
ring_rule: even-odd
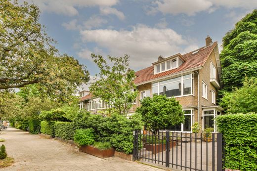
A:
<svg viewBox="0 0 257 171">
<path fill-rule="evenodd" d="M 183 79 L 183 76 L 185 76 L 185 75 L 188 75 L 188 74 L 191 74 L 191 78 L 187 78 L 187 79 L 190 79 L 191 80 L 191 94 L 186 94 L 186 95 L 184 95 L 184 84 L 183 84 L 183 80 L 187 80 L 187 79 Z M 182 76 L 180 76 L 181 77 L 181 80 L 179 80 L 179 81 L 181 81 L 181 95 L 178 95 L 178 96 L 174 96 L 174 97 L 184 97 L 184 96 L 189 96 L 189 95 L 193 95 L 194 96 L 194 93 L 195 93 L 195 87 L 194 87 L 194 84 L 195 84 L 195 79 L 194 79 L 194 77 L 195 77 L 195 75 L 194 75 L 194 73 L 187 73 L 187 74 L 184 74 L 184 75 L 182 75 Z M 174 78 L 176 78 L 176 77 L 174 77 Z M 170 79 L 173 79 L 173 78 L 169 78 L 169 79 L 167 79 L 167 80 L 170 80 Z M 163 81 L 163 80 L 162 80 Z M 169 82 L 169 83 L 175 83 L 175 82 L 179 82 L 179 81 L 174 81 L 174 82 Z M 155 84 L 155 83 L 157 83 L 157 85 L 154 85 L 153 86 L 153 84 Z M 159 93 L 160 93 L 160 91 L 159 91 L 159 86 L 160 86 L 160 82 L 155 82 L 155 83 L 152 83 L 152 92 L 151 92 L 151 97 L 153 97 L 153 87 L 157 87 L 157 95 L 160 95 Z M 167 83 L 167 84 L 169 84 L 169 83 Z M 161 84 L 161 85 L 163 85 L 163 84 Z M 168 98 L 171 98 L 171 97 L 168 97 Z"/>
</svg>

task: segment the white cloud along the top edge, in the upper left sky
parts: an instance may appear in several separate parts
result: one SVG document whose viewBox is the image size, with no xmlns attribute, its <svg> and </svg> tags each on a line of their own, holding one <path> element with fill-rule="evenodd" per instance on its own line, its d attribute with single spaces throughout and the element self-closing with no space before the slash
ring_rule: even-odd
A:
<svg viewBox="0 0 257 171">
<path fill-rule="evenodd" d="M 113 6 L 119 0 L 28 0 L 28 2 L 37 4 L 42 11 L 74 16 L 79 14 L 77 7 Z"/>
</svg>

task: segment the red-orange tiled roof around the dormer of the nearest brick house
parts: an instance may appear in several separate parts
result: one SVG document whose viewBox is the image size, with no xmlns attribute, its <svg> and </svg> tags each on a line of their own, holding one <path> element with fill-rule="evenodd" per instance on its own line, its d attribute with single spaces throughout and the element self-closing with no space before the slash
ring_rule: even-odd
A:
<svg viewBox="0 0 257 171">
<path fill-rule="evenodd" d="M 189 53 L 186 53 L 183 56 L 183 58 L 186 60 L 182 65 L 180 65 L 178 68 L 166 71 L 166 72 L 162 72 L 159 74 L 154 74 L 154 66 L 150 66 L 147 67 L 145 69 L 139 70 L 137 72 L 135 72 L 136 78 L 134 80 L 134 83 L 136 85 L 143 83 L 143 82 L 147 82 L 153 79 L 157 79 L 157 78 L 161 78 L 164 76 L 168 76 L 171 74 L 175 74 L 175 73 L 179 73 L 182 71 L 187 71 L 190 69 L 194 69 L 194 68 L 198 68 L 201 67 L 205 64 L 205 61 L 207 60 L 207 58 L 209 57 L 209 55 L 211 54 L 211 52 L 213 51 L 214 47 L 217 45 L 217 42 L 214 42 L 212 45 L 210 46 L 204 46 L 201 47 L 197 50 L 199 50 L 196 53 L 193 53 L 197 50 L 191 51 Z"/>
</svg>

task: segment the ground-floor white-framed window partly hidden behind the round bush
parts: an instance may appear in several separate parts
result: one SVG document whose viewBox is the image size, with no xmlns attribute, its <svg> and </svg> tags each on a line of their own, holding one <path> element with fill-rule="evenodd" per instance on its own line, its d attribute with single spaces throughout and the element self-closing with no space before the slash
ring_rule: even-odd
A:
<svg viewBox="0 0 257 171">
<path fill-rule="evenodd" d="M 175 126 L 168 126 L 165 130 L 191 132 L 194 110 L 184 110 L 185 123 Z"/>
</svg>

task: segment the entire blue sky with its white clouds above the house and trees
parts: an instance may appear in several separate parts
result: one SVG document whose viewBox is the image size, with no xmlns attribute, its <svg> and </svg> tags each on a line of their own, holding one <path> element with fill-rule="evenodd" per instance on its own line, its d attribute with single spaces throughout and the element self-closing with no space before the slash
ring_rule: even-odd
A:
<svg viewBox="0 0 257 171">
<path fill-rule="evenodd" d="M 22 1 L 22 0 L 20 0 Z M 90 54 L 129 54 L 130 68 L 148 67 L 205 45 L 210 35 L 221 45 L 225 33 L 257 0 L 28 0 L 41 10 L 40 23 L 67 53 L 98 72 Z M 219 47 L 221 49 L 221 47 Z M 219 49 L 219 50 L 220 50 Z"/>
</svg>

